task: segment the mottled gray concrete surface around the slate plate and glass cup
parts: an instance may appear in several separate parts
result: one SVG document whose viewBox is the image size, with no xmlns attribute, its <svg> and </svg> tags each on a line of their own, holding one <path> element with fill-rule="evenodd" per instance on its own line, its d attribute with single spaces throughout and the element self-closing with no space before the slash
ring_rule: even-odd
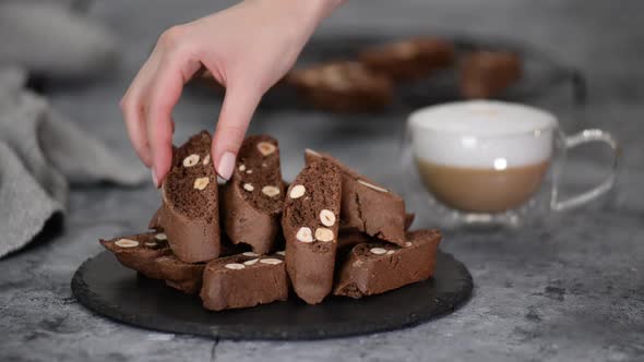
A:
<svg viewBox="0 0 644 362">
<path fill-rule="evenodd" d="M 92 15 L 123 41 L 122 69 L 90 86 L 57 88 L 53 104 L 134 157 L 117 102 L 159 32 L 224 4 L 214 1 L 102 1 Z M 213 341 L 159 334 L 96 316 L 69 282 L 100 251 L 99 236 L 140 230 L 158 204 L 143 189 L 74 190 L 62 234 L 0 261 L 1 361 L 636 361 L 644 359 L 644 4 L 582 0 L 351 1 L 321 33 L 446 29 L 527 41 L 583 69 L 592 102 L 583 124 L 613 131 L 623 143 L 619 189 L 552 224 L 497 233 L 449 232 L 443 250 L 469 267 L 474 298 L 456 313 L 407 330 L 308 342 Z M 212 128 L 217 102 L 190 92 L 178 107 L 177 140 Z M 281 141 L 285 173 L 301 150 L 339 155 L 401 188 L 402 119 L 348 121 L 329 114 L 258 114 L 252 129 Z M 604 172 L 605 155 L 574 155 L 567 190 Z M 589 160 L 586 156 L 597 156 Z M 419 210 L 420 225 L 431 220 Z"/>
</svg>

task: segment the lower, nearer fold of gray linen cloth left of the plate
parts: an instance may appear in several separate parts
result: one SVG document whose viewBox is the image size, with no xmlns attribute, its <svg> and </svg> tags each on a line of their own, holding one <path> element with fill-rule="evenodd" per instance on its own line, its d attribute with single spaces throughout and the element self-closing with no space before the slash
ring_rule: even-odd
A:
<svg viewBox="0 0 644 362">
<path fill-rule="evenodd" d="M 69 184 L 135 185 L 147 174 L 24 88 L 26 70 L 0 68 L 0 257 L 27 244 L 56 213 Z"/>
</svg>

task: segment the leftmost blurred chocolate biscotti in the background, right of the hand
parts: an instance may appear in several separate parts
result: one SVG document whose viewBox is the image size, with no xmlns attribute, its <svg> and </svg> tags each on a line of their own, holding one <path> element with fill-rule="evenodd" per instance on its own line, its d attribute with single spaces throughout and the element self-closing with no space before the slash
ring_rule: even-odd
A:
<svg viewBox="0 0 644 362">
<path fill-rule="evenodd" d="M 333 111 L 382 110 L 393 101 L 390 80 L 355 61 L 293 70 L 286 83 L 312 106 Z"/>
</svg>

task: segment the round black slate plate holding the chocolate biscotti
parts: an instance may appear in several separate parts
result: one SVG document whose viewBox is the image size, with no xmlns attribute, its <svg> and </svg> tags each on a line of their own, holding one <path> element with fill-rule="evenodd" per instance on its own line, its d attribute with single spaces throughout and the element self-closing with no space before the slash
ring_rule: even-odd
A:
<svg viewBox="0 0 644 362">
<path fill-rule="evenodd" d="M 107 251 L 87 260 L 72 280 L 75 298 L 110 318 L 150 329 L 226 339 L 320 339 L 417 325 L 453 312 L 469 299 L 472 276 L 439 252 L 433 279 L 381 295 L 329 298 L 307 305 L 297 298 L 246 310 L 210 312 L 198 295 L 138 277 Z"/>
</svg>

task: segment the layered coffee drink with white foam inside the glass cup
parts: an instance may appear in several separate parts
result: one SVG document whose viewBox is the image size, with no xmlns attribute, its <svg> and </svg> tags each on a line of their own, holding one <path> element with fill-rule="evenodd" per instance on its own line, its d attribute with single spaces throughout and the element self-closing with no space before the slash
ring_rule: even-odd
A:
<svg viewBox="0 0 644 362">
<path fill-rule="evenodd" d="M 502 213 L 539 190 L 551 164 L 557 120 L 500 101 L 466 101 L 409 118 L 418 173 L 442 204 L 467 213 Z"/>
</svg>

